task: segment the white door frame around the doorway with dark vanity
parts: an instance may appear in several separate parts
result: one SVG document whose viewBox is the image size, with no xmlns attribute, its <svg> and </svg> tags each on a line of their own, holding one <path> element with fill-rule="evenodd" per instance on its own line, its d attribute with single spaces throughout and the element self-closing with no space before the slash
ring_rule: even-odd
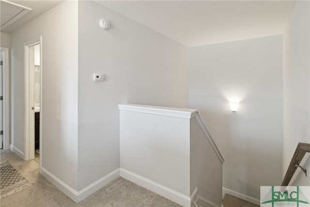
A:
<svg viewBox="0 0 310 207">
<path fill-rule="evenodd" d="M 42 36 L 24 43 L 24 160 L 34 159 L 34 47 L 40 44 L 40 167 L 42 117 Z M 31 97 L 29 96 L 31 95 Z"/>
</svg>

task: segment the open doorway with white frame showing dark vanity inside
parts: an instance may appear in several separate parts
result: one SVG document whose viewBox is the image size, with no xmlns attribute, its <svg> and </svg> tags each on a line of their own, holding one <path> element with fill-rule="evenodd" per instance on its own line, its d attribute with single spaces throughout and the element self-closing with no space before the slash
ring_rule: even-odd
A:
<svg viewBox="0 0 310 207">
<path fill-rule="evenodd" d="M 40 159 L 42 120 L 42 37 L 24 44 L 25 51 L 25 139 L 24 160 Z"/>
</svg>

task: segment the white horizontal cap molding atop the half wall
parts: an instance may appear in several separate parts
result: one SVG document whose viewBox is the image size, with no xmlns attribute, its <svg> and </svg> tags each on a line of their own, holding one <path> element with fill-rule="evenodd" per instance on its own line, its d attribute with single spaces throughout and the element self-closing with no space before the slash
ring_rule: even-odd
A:
<svg viewBox="0 0 310 207">
<path fill-rule="evenodd" d="M 159 107 L 159 106 L 148 106 L 148 105 L 139 105 L 139 104 L 119 104 L 119 109 L 122 111 L 135 111 L 142 113 L 151 113 L 164 116 L 173 116 L 179 118 L 190 119 L 192 114 L 197 112 L 195 109 L 178 109 L 170 107 Z"/>
</svg>

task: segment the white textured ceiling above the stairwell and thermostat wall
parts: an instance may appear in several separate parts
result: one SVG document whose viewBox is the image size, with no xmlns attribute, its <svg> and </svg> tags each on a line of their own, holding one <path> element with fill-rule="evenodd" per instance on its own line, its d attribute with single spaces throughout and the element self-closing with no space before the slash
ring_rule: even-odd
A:
<svg viewBox="0 0 310 207">
<path fill-rule="evenodd" d="M 295 2 L 95 1 L 188 47 L 282 34 Z"/>
</svg>

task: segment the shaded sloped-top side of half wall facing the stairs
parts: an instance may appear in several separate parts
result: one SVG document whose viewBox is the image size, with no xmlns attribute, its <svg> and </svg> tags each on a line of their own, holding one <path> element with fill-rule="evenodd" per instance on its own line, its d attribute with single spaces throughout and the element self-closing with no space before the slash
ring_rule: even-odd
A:
<svg viewBox="0 0 310 207">
<path fill-rule="evenodd" d="M 197 188 L 197 195 L 222 205 L 222 170 L 212 145 L 205 137 L 197 118 L 190 119 L 190 194 Z M 198 200 L 199 201 L 199 200 Z M 201 203 L 198 205 L 205 206 Z"/>
</svg>

